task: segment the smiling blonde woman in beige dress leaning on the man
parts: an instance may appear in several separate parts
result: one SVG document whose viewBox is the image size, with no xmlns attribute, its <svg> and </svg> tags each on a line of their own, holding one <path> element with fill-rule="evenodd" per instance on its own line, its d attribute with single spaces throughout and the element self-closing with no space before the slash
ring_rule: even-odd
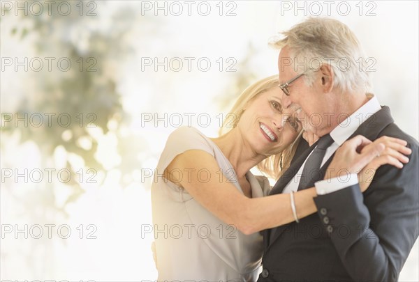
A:
<svg viewBox="0 0 419 282">
<path fill-rule="evenodd" d="M 300 135 L 293 112 L 281 107 L 277 85 L 274 76 L 249 86 L 218 138 L 192 127 L 170 134 L 152 185 L 159 281 L 256 281 L 263 252 L 258 231 L 316 212 L 314 188 L 267 196 L 267 178 L 250 172 L 258 165 L 277 178 Z M 401 142 L 393 141 L 395 148 Z M 381 150 L 374 143 L 363 151 Z M 384 163 L 399 161 L 378 157 L 364 170 Z M 360 187 L 365 191 L 368 184 Z"/>
</svg>

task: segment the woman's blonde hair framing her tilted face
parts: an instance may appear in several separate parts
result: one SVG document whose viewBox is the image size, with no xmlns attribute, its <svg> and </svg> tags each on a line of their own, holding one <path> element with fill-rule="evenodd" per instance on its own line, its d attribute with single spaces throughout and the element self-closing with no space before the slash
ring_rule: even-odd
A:
<svg viewBox="0 0 419 282">
<path fill-rule="evenodd" d="M 247 102 L 253 100 L 260 93 L 264 93 L 265 91 L 268 91 L 274 87 L 278 87 L 278 75 L 266 77 L 265 79 L 256 81 L 256 83 L 251 84 L 251 86 L 247 87 L 237 98 L 237 101 L 233 105 L 233 108 L 226 115 L 226 118 L 223 121 L 223 125 L 219 130 L 219 134 L 226 134 L 237 126 L 237 123 L 239 122 L 240 117 L 242 116 L 244 107 L 246 106 Z M 266 159 L 263 159 L 263 161 L 258 164 L 258 169 L 262 173 L 265 173 L 267 176 L 270 176 L 275 180 L 281 177 L 282 173 L 286 169 L 288 169 L 288 167 L 291 164 L 291 159 L 293 159 L 301 135 L 302 132 L 298 134 L 295 141 L 293 141 L 293 143 L 291 143 L 291 145 L 288 146 L 286 149 L 282 150 L 281 152 L 278 152 L 276 155 L 272 155 L 270 157 L 267 157 Z"/>
</svg>

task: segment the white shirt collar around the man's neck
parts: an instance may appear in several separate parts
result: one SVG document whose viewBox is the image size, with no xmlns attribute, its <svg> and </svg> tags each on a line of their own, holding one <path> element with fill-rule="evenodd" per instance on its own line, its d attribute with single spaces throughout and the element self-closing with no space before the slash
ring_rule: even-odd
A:
<svg viewBox="0 0 419 282">
<path fill-rule="evenodd" d="M 345 118 L 337 127 L 335 127 L 330 136 L 339 146 L 346 141 L 358 129 L 361 123 L 365 122 L 372 114 L 376 113 L 381 109 L 380 103 L 375 95 L 367 93 L 367 97 L 370 97 L 368 102 L 362 105 L 358 110 Z"/>
</svg>

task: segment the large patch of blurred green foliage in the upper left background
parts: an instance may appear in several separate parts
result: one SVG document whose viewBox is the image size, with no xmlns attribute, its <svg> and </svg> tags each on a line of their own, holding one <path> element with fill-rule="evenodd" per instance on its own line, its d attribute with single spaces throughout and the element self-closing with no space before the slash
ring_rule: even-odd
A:
<svg viewBox="0 0 419 282">
<path fill-rule="evenodd" d="M 66 2 L 71 3 L 73 11 L 80 9 L 77 7 L 80 1 Z M 14 26 L 10 34 L 20 40 L 26 40 L 29 35 L 35 36 L 36 56 L 53 57 L 53 65 L 59 58 L 67 58 L 66 60 L 72 63 L 71 68 L 66 72 L 56 69 L 52 72 L 47 72 L 47 70 L 35 72 L 32 75 L 36 81 L 35 87 L 26 89 L 27 92 L 24 93 L 24 98 L 16 113 L 19 117 L 25 114 L 31 116 L 32 113 L 41 113 L 41 115 L 49 113 L 54 115 L 52 120 L 55 121 L 57 121 L 57 116 L 65 113 L 72 118 L 71 123 L 67 127 L 59 126 L 56 122 L 53 126 L 49 126 L 44 115 L 45 120 L 40 127 L 15 127 L 13 123 L 8 123 L 1 128 L 1 133 L 11 134 L 19 131 L 21 143 L 34 141 L 41 151 L 44 168 L 51 167 L 54 150 L 62 146 L 68 154 L 73 153 L 82 157 L 88 169 L 106 173 L 95 157 L 98 141 L 92 136 L 91 127 L 97 127 L 103 134 L 106 134 L 109 131 L 108 123 L 112 120 L 112 130 L 115 134 L 119 134 L 121 125 L 128 123 L 128 116 L 123 111 L 120 93 L 117 91 L 117 65 L 131 52 L 129 45 L 125 44 L 124 36 L 133 25 L 135 13 L 129 8 L 113 11 L 112 25 L 103 28 L 101 17 L 97 14 L 96 16 L 80 16 L 79 13 L 71 13 L 63 16 L 57 12 L 57 9 L 52 8 L 51 11 L 52 15 L 20 13 L 22 24 Z M 5 12 L 6 15 L 1 21 L 8 20 L 8 17 L 15 17 L 13 11 Z M 3 95 L 13 95 L 13 93 L 3 93 Z M 84 143 L 87 141 L 89 145 L 80 146 L 81 139 Z M 141 141 L 138 142 L 141 143 Z M 123 154 L 126 153 L 126 145 L 126 142 L 119 144 L 118 149 Z M 67 169 L 76 175 L 68 159 L 66 162 Z M 122 158 L 123 174 L 139 166 L 140 162 L 136 158 Z M 72 178 L 67 185 L 73 191 L 66 201 L 70 203 L 75 201 L 83 190 L 75 178 Z M 98 182 L 98 185 L 101 183 Z M 52 189 L 49 190 L 45 193 L 53 193 Z M 51 196 L 54 198 L 54 195 L 47 198 Z"/>
</svg>

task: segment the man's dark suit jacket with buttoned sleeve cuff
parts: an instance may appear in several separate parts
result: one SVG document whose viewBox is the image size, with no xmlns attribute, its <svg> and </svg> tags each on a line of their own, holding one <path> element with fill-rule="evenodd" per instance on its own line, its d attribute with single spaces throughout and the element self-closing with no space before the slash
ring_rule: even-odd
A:
<svg viewBox="0 0 419 282">
<path fill-rule="evenodd" d="M 412 150 L 409 163 L 403 169 L 381 166 L 363 194 L 353 185 L 317 196 L 318 212 L 299 224 L 263 230 L 258 281 L 397 281 L 419 233 L 418 141 L 393 123 L 388 107 L 365 120 L 351 137 L 358 134 L 369 140 L 384 135 L 406 140 Z M 271 194 L 284 190 L 315 146 L 300 141 L 291 167 Z M 332 157 L 314 181 L 323 180 Z"/>
</svg>

